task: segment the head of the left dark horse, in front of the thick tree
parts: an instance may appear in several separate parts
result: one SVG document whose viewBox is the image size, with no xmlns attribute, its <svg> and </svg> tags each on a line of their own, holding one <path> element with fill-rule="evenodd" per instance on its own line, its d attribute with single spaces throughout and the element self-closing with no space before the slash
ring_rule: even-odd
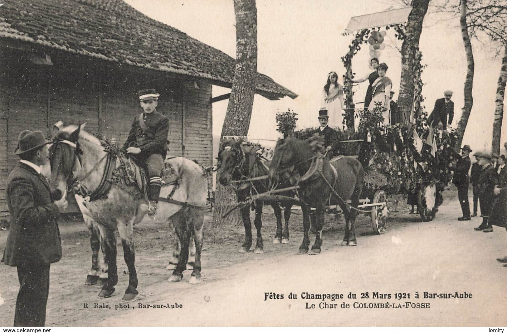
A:
<svg viewBox="0 0 507 333">
<path fill-rule="evenodd" d="M 241 149 L 241 143 L 242 140 L 230 140 L 222 143 L 220 147 L 218 174 L 220 175 L 220 183 L 224 186 L 231 181 L 231 177 L 235 173 L 239 172 L 245 160 L 245 154 Z"/>
</svg>

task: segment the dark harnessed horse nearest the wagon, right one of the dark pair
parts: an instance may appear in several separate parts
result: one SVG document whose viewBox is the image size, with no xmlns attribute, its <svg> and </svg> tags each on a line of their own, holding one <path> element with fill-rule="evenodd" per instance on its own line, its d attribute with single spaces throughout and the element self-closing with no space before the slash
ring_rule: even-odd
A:
<svg viewBox="0 0 507 333">
<path fill-rule="evenodd" d="M 339 204 L 346 219 L 345 236 L 342 245 L 357 245 L 354 222 L 361 191 L 363 191 L 364 170 L 357 159 L 340 157 L 330 162 L 320 152 L 314 152 L 308 140 L 297 138 L 280 139 L 276 143 L 273 160 L 269 167 L 272 182 L 278 181 L 283 173 L 293 173 L 299 178 L 297 190 L 303 211 L 304 237 L 298 254 L 308 253 L 310 239 L 310 207 L 315 207 L 315 243 L 309 254 L 320 253 L 321 235 L 324 224 L 324 210 L 327 205 Z M 338 194 L 338 195 L 337 195 Z M 347 203 L 351 200 L 351 205 Z M 313 219 L 312 219 L 313 222 Z"/>
</svg>

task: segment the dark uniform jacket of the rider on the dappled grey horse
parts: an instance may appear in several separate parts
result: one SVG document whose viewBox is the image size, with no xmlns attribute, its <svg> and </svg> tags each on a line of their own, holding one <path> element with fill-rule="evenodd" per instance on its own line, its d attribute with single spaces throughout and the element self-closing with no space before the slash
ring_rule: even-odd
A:
<svg viewBox="0 0 507 333">
<path fill-rule="evenodd" d="M 123 145 L 123 150 L 126 150 L 131 145 L 130 143 L 134 142 L 134 146 L 141 149 L 141 158 L 148 158 L 152 154 L 160 154 L 165 158 L 167 154 L 169 119 L 155 110 L 144 117 L 144 123 L 147 128 L 143 130 L 139 124 L 139 117 L 143 116 L 144 113 L 135 116 L 127 141 Z"/>
</svg>

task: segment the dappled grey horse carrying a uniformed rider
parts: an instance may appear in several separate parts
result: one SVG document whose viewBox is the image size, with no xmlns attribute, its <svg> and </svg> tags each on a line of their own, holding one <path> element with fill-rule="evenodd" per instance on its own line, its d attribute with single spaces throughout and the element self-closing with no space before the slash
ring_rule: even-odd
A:
<svg viewBox="0 0 507 333">
<path fill-rule="evenodd" d="M 146 214 L 147 199 L 136 184 L 112 181 L 112 172 L 122 163 L 114 154 L 123 153 L 104 150 L 101 142 L 86 132 L 84 126 L 70 125 L 61 129 L 57 127 L 58 131 L 50 146 L 50 190 L 55 198 L 61 198 L 62 193 L 66 196 L 67 185 L 74 182 L 74 185 L 81 189 L 76 197 L 82 212 L 87 216 L 85 220 L 87 223 L 94 221 L 98 225 L 100 245 L 104 249 L 107 264 L 107 280 L 99 292 L 99 298 L 111 297 L 115 291 L 114 286 L 118 283 L 115 232 L 119 235 L 129 271 L 129 284 L 123 300 L 132 301 L 138 294 L 133 225 Z M 199 283 L 204 225 L 202 208 L 206 205 L 207 180 L 202 168 L 189 159 L 169 158 L 166 159 L 165 166 L 178 176 L 176 182 L 162 187 L 157 215 L 170 218 L 181 244 L 178 263 L 169 281 L 177 282 L 183 279 L 190 238 L 193 236 L 196 255 L 189 282 Z M 98 250 L 96 240 L 93 242 L 95 250 Z"/>
</svg>

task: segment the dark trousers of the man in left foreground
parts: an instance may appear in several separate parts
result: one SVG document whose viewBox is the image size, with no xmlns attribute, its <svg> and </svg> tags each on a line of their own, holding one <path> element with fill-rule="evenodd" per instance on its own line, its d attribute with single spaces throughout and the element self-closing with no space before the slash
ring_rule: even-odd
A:
<svg viewBox="0 0 507 333">
<path fill-rule="evenodd" d="M 49 294 L 50 264 L 18 265 L 19 292 L 14 314 L 15 327 L 44 327 Z"/>
</svg>

